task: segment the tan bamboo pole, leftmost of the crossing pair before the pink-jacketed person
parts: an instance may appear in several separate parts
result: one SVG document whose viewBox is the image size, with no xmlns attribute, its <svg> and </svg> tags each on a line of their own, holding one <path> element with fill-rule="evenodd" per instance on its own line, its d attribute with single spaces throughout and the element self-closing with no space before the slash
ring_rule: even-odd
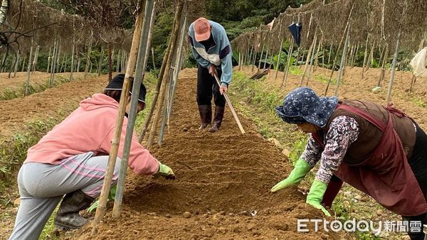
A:
<svg viewBox="0 0 427 240">
<path fill-rule="evenodd" d="M 142 3 L 141 3 L 142 4 Z M 93 220 L 91 236 L 95 236 L 97 233 L 97 224 L 100 223 L 101 219 L 105 215 L 108 194 L 110 192 L 112 174 L 114 173 L 115 162 L 117 160 L 117 152 L 120 146 L 120 136 L 122 133 L 123 121 L 125 118 L 125 111 L 127 106 L 127 97 L 130 90 L 130 82 L 133 80 L 133 74 L 135 69 L 135 63 L 137 60 L 137 52 L 139 48 L 139 39 L 141 38 L 141 26 L 142 26 L 142 11 L 139 11 L 137 21 L 135 23 L 135 31 L 132 38 L 132 45 L 130 50 L 130 62 L 127 65 L 125 80 L 123 82 L 122 93 L 120 94 L 119 112 L 115 121 L 114 137 L 111 141 L 110 156 L 108 158 L 107 171 L 105 173 L 104 182 L 102 183 L 102 190 L 99 199 L 99 204 L 96 209 L 95 219 Z"/>
</svg>

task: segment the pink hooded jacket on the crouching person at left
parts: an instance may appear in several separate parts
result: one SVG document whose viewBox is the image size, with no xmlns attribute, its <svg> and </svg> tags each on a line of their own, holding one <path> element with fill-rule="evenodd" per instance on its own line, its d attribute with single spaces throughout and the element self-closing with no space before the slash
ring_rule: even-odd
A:
<svg viewBox="0 0 427 240">
<path fill-rule="evenodd" d="M 78 109 L 28 149 L 25 163 L 58 164 L 64 158 L 89 151 L 95 156 L 110 154 L 118 109 L 115 99 L 105 94 L 84 99 Z M 123 122 L 119 158 L 123 156 L 126 126 L 127 118 Z M 135 131 L 128 165 L 137 175 L 152 175 L 159 170 L 159 161 L 138 143 Z"/>
</svg>

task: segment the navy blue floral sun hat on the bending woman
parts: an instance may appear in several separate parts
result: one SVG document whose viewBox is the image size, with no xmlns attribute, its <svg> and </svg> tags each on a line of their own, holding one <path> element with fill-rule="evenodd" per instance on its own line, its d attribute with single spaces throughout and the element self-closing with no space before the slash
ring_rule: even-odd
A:
<svg viewBox="0 0 427 240">
<path fill-rule="evenodd" d="M 337 104 L 337 97 L 319 97 L 309 87 L 298 87 L 289 92 L 282 106 L 275 107 L 275 110 L 289 124 L 308 122 L 322 128 L 326 126 Z"/>
</svg>

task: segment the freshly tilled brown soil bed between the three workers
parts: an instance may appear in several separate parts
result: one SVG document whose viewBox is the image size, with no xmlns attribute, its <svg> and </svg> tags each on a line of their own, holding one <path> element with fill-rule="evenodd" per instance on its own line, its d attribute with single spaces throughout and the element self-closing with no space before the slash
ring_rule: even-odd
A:
<svg viewBox="0 0 427 240">
<path fill-rule="evenodd" d="M 110 213 L 90 236 L 71 239 L 340 239 L 334 233 L 298 233 L 297 219 L 323 217 L 296 188 L 269 192 L 291 166 L 240 116 L 245 135 L 227 109 L 221 131 L 198 131 L 196 70 L 178 84 L 170 132 L 151 152 L 174 169 L 176 180 L 128 175 L 122 217 Z M 257 214 L 251 216 L 251 212 Z M 184 214 L 184 212 L 189 212 Z M 188 215 L 188 216 L 187 216 Z"/>
</svg>

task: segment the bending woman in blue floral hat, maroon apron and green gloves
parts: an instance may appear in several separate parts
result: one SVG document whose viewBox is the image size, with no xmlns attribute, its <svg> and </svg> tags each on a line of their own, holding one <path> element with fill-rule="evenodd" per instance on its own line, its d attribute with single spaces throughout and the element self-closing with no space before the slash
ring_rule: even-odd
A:
<svg viewBox="0 0 427 240">
<path fill-rule="evenodd" d="M 308 87 L 292 90 L 276 107 L 278 116 L 310 133 L 288 178 L 271 192 L 299 184 L 320 161 L 306 202 L 327 216 L 342 182 L 367 193 L 419 228 L 427 224 L 427 135 L 411 117 L 389 104 L 318 97 Z"/>
</svg>

